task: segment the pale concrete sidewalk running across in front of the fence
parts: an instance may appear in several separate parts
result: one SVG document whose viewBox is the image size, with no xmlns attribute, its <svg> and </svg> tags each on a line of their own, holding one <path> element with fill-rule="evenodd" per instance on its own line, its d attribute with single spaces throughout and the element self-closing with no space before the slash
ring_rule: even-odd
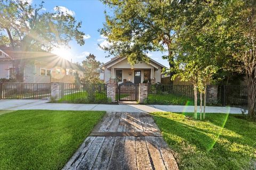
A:
<svg viewBox="0 0 256 170">
<path fill-rule="evenodd" d="M 107 111 L 107 112 L 194 112 L 194 106 L 173 105 L 102 105 L 102 104 L 50 104 L 48 100 L 2 99 L 0 110 L 49 109 L 70 111 Z M 199 111 L 199 107 L 198 107 Z M 206 106 L 206 113 L 241 114 L 241 108 Z"/>
</svg>

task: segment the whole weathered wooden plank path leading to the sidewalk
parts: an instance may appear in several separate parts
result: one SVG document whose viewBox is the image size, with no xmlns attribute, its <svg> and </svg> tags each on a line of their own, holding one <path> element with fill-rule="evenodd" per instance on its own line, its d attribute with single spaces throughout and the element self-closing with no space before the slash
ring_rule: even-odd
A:
<svg viewBox="0 0 256 170">
<path fill-rule="evenodd" d="M 179 169 L 151 115 L 107 113 L 66 169 Z"/>
</svg>

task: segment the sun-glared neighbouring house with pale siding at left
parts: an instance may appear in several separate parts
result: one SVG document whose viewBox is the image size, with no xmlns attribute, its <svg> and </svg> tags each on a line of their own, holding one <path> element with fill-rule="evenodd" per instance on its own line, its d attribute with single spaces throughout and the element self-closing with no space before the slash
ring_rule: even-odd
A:
<svg viewBox="0 0 256 170">
<path fill-rule="evenodd" d="M 76 73 L 83 77 L 81 66 L 52 53 L 22 52 L 10 47 L 0 47 L 0 52 L 0 79 L 15 78 L 21 82 L 36 83 L 74 83 Z"/>
</svg>

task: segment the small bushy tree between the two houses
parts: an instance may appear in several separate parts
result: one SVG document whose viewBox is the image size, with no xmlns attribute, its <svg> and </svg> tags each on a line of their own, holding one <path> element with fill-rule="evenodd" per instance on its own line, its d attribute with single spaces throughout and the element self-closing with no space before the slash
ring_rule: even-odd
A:
<svg viewBox="0 0 256 170">
<path fill-rule="evenodd" d="M 100 73 L 99 68 L 101 63 L 95 60 L 95 56 L 93 54 L 89 54 L 86 57 L 86 60 L 82 62 L 84 67 L 84 78 L 82 79 L 83 83 L 99 83 L 100 82 Z"/>
</svg>

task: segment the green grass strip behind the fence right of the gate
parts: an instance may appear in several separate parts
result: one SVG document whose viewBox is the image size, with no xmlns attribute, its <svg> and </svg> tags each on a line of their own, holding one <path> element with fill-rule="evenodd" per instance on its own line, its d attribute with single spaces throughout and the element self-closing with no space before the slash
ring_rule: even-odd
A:
<svg viewBox="0 0 256 170">
<path fill-rule="evenodd" d="M 147 104 L 158 104 L 158 105 L 194 105 L 194 100 L 174 94 L 148 94 Z"/>
</svg>

